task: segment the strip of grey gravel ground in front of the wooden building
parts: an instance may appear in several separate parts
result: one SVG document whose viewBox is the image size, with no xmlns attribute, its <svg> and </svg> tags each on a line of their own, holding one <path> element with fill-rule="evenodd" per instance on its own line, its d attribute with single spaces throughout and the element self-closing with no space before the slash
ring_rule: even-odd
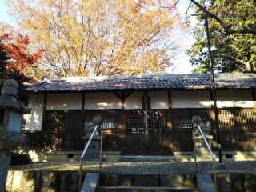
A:
<svg viewBox="0 0 256 192">
<path fill-rule="evenodd" d="M 212 171 L 212 162 L 198 162 L 198 173 Z M 256 173 L 256 161 L 217 163 L 218 173 Z M 86 172 L 98 172 L 98 162 L 85 162 Z M 79 162 L 46 162 L 23 166 L 10 166 L 10 170 L 24 171 L 78 171 Z M 193 174 L 194 162 L 103 162 L 102 172 L 113 174 Z"/>
</svg>

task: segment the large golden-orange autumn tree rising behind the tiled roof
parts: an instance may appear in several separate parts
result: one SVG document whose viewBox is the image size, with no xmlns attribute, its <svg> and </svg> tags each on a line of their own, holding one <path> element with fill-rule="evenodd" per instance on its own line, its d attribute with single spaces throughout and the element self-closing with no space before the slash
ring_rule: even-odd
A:
<svg viewBox="0 0 256 192">
<path fill-rule="evenodd" d="M 177 21 L 155 2 L 170 0 L 10 0 L 10 13 L 44 51 L 57 76 L 162 73 L 170 66 L 166 31 Z"/>
</svg>

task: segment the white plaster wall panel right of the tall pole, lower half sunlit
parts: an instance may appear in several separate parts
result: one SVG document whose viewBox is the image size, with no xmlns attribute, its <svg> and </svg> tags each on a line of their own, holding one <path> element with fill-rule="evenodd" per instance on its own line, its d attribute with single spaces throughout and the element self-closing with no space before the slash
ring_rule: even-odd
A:
<svg viewBox="0 0 256 192">
<path fill-rule="evenodd" d="M 217 90 L 217 106 L 225 107 L 254 107 L 250 90 Z"/>
</svg>

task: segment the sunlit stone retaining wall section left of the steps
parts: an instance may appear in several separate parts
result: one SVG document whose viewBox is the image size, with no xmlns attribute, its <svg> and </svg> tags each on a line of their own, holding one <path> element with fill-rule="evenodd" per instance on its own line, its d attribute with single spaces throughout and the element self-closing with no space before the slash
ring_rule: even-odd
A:
<svg viewBox="0 0 256 192">
<path fill-rule="evenodd" d="M 78 172 L 9 171 L 6 192 L 77 192 Z"/>
</svg>

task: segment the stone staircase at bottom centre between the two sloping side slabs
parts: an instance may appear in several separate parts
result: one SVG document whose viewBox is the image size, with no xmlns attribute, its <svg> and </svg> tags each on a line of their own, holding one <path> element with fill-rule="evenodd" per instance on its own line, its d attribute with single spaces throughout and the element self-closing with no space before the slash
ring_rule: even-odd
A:
<svg viewBox="0 0 256 192">
<path fill-rule="evenodd" d="M 97 192 L 197 191 L 192 174 L 101 174 Z"/>
</svg>

